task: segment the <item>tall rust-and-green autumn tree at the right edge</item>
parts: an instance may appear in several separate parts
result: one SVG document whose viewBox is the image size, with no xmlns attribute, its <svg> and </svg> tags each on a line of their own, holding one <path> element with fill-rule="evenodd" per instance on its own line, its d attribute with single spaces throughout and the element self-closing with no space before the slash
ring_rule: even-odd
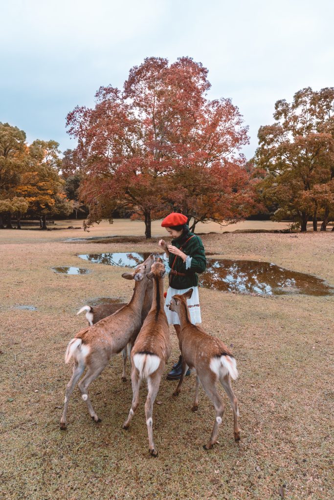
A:
<svg viewBox="0 0 334 500">
<path fill-rule="evenodd" d="M 275 220 L 292 218 L 306 231 L 317 217 L 326 230 L 334 208 L 334 88 L 316 92 L 310 87 L 294 94 L 291 103 L 278 100 L 275 123 L 261 126 L 255 161 L 263 180 L 262 199 L 276 203 Z"/>
</svg>

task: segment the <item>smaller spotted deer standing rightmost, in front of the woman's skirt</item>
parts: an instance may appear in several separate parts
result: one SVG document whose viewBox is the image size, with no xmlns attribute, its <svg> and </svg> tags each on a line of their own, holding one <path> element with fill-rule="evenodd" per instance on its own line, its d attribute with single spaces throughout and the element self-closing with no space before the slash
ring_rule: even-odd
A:
<svg viewBox="0 0 334 500">
<path fill-rule="evenodd" d="M 181 331 L 178 337 L 183 356 L 183 374 L 173 395 L 177 396 L 179 394 L 188 367 L 194 369 L 197 376 L 192 411 L 198 409 L 199 382 L 201 382 L 216 410 L 216 421 L 210 440 L 203 446 L 204 449 L 210 449 L 217 440 L 218 429 L 224 412 L 224 405 L 216 387 L 217 380 L 224 387 L 231 403 L 234 417 L 234 439 L 236 441 L 240 439 L 238 400 L 231 387 L 231 378 L 235 380 L 238 377 L 238 371 L 235 358 L 224 342 L 217 337 L 208 335 L 200 326 L 190 322 L 187 298 L 191 297 L 192 291 L 192 288 L 190 288 L 183 295 L 174 295 L 169 305 L 169 308 L 177 312 L 180 318 Z"/>
</svg>

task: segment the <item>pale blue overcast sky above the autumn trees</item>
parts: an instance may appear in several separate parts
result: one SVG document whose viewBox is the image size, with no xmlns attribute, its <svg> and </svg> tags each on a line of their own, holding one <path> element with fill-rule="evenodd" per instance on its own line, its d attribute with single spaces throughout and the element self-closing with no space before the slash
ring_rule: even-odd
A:
<svg viewBox="0 0 334 500">
<path fill-rule="evenodd" d="M 67 113 L 152 55 L 209 69 L 209 97 L 231 97 L 249 125 L 247 157 L 276 100 L 334 85 L 332 0 L 0 1 L 0 121 L 62 151 Z"/>
</svg>

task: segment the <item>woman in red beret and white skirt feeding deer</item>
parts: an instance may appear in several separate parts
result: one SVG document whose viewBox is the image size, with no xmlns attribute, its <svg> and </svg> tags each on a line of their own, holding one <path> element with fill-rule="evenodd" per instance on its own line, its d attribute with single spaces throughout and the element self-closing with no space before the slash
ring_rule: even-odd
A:
<svg viewBox="0 0 334 500">
<path fill-rule="evenodd" d="M 193 324 L 201 323 L 201 310 L 198 297 L 198 272 L 206 269 L 206 257 L 202 240 L 196 234 L 189 231 L 187 217 L 182 213 L 170 213 L 163 219 L 161 225 L 166 227 L 172 236 L 172 244 L 167 245 L 164 239 L 159 240 L 159 246 L 163 248 L 168 258 L 169 288 L 167 290 L 165 312 L 169 324 L 173 324 L 177 333 L 180 333 L 180 319 L 176 312 L 169 310 L 167 305 L 173 295 L 185 293 L 193 288 L 191 298 L 187 301 L 190 319 Z M 167 374 L 168 380 L 177 380 L 182 373 L 182 356 L 173 365 L 173 369 Z M 190 370 L 187 371 L 190 374 Z"/>
</svg>

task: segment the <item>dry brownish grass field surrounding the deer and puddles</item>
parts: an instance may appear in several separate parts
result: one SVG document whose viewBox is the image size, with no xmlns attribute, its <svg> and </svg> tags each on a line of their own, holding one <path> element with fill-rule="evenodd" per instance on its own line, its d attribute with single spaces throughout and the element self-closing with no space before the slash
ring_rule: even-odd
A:
<svg viewBox="0 0 334 500">
<path fill-rule="evenodd" d="M 246 225 L 257 224 L 268 227 L 267 222 Z M 212 230 L 217 234 L 209 233 Z M 223 230 L 198 228 L 208 232 L 202 236 L 207 252 L 270 261 L 334 285 L 334 232 L 222 234 Z M 154 226 L 153 235 L 163 232 Z M 233 388 L 240 409 L 239 444 L 233 439 L 232 411 L 221 389 L 226 411 L 219 443 L 203 450 L 214 409 L 200 389 L 199 410 L 190 411 L 195 382 L 191 375 L 178 399 L 172 397 L 175 383 L 162 381 L 153 412 L 159 456 L 149 457 L 144 384 L 133 423 L 128 431 L 122 429 L 132 390 L 129 376 L 121 382 L 121 356 L 113 358 L 91 385 L 102 422 L 91 420 L 76 388 L 68 430 L 59 429 L 72 372 L 64 353 L 69 340 L 86 325 L 84 315 L 76 311 L 96 297 L 128 299 L 133 287 L 121 278 L 124 269 L 84 261 L 77 254 L 157 251 L 156 241 L 67 239 L 142 233 L 143 224 L 131 221 L 111 226 L 103 222 L 89 234 L 81 229 L 0 231 L 0 497 L 332 500 L 334 296 L 271 298 L 200 289 L 203 327 L 233 344 L 237 359 L 240 376 Z M 56 274 L 51 267 L 59 265 L 91 272 Z M 20 310 L 18 305 L 34 305 L 37 310 Z M 172 342 L 169 364 L 179 355 L 174 333 Z"/>
</svg>

